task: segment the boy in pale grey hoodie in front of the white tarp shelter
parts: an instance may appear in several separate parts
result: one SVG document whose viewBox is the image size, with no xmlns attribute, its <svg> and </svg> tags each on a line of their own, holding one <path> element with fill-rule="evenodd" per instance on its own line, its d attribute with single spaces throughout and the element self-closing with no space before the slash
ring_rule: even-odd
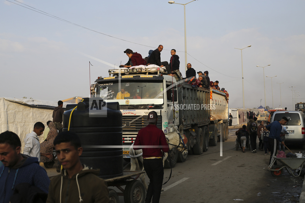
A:
<svg viewBox="0 0 305 203">
<path fill-rule="evenodd" d="M 45 130 L 45 125 L 41 122 L 34 124 L 34 130 L 27 134 L 24 138 L 24 149 L 23 154 L 27 156 L 37 157 L 40 162 L 40 156 L 46 156 L 49 159 L 52 158 L 51 153 L 40 153 L 40 143 L 39 138 L 43 131 Z"/>
</svg>

